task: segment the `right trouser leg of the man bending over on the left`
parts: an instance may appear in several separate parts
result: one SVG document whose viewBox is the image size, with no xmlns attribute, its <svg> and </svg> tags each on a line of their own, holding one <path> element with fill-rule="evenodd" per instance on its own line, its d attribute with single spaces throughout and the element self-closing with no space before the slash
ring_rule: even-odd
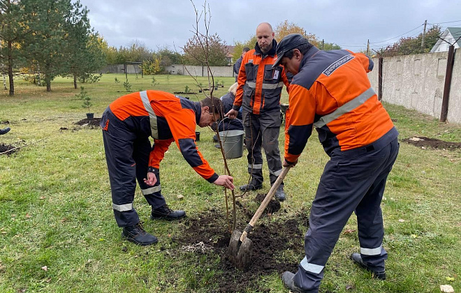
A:
<svg viewBox="0 0 461 293">
<path fill-rule="evenodd" d="M 144 195 L 147 203 L 152 206 L 152 209 L 163 206 L 165 198 L 161 195 L 161 184 L 160 176 L 158 173 L 156 176 L 156 183 L 154 186 L 148 186 L 144 183 L 144 179 L 147 176 L 147 169 L 149 164 L 149 155 L 152 150 L 148 137 L 143 137 L 140 140 L 134 142 L 136 152 L 133 153 L 133 158 L 136 161 L 136 178 L 138 179 L 139 187 L 141 188 L 142 195 Z"/>
</svg>

